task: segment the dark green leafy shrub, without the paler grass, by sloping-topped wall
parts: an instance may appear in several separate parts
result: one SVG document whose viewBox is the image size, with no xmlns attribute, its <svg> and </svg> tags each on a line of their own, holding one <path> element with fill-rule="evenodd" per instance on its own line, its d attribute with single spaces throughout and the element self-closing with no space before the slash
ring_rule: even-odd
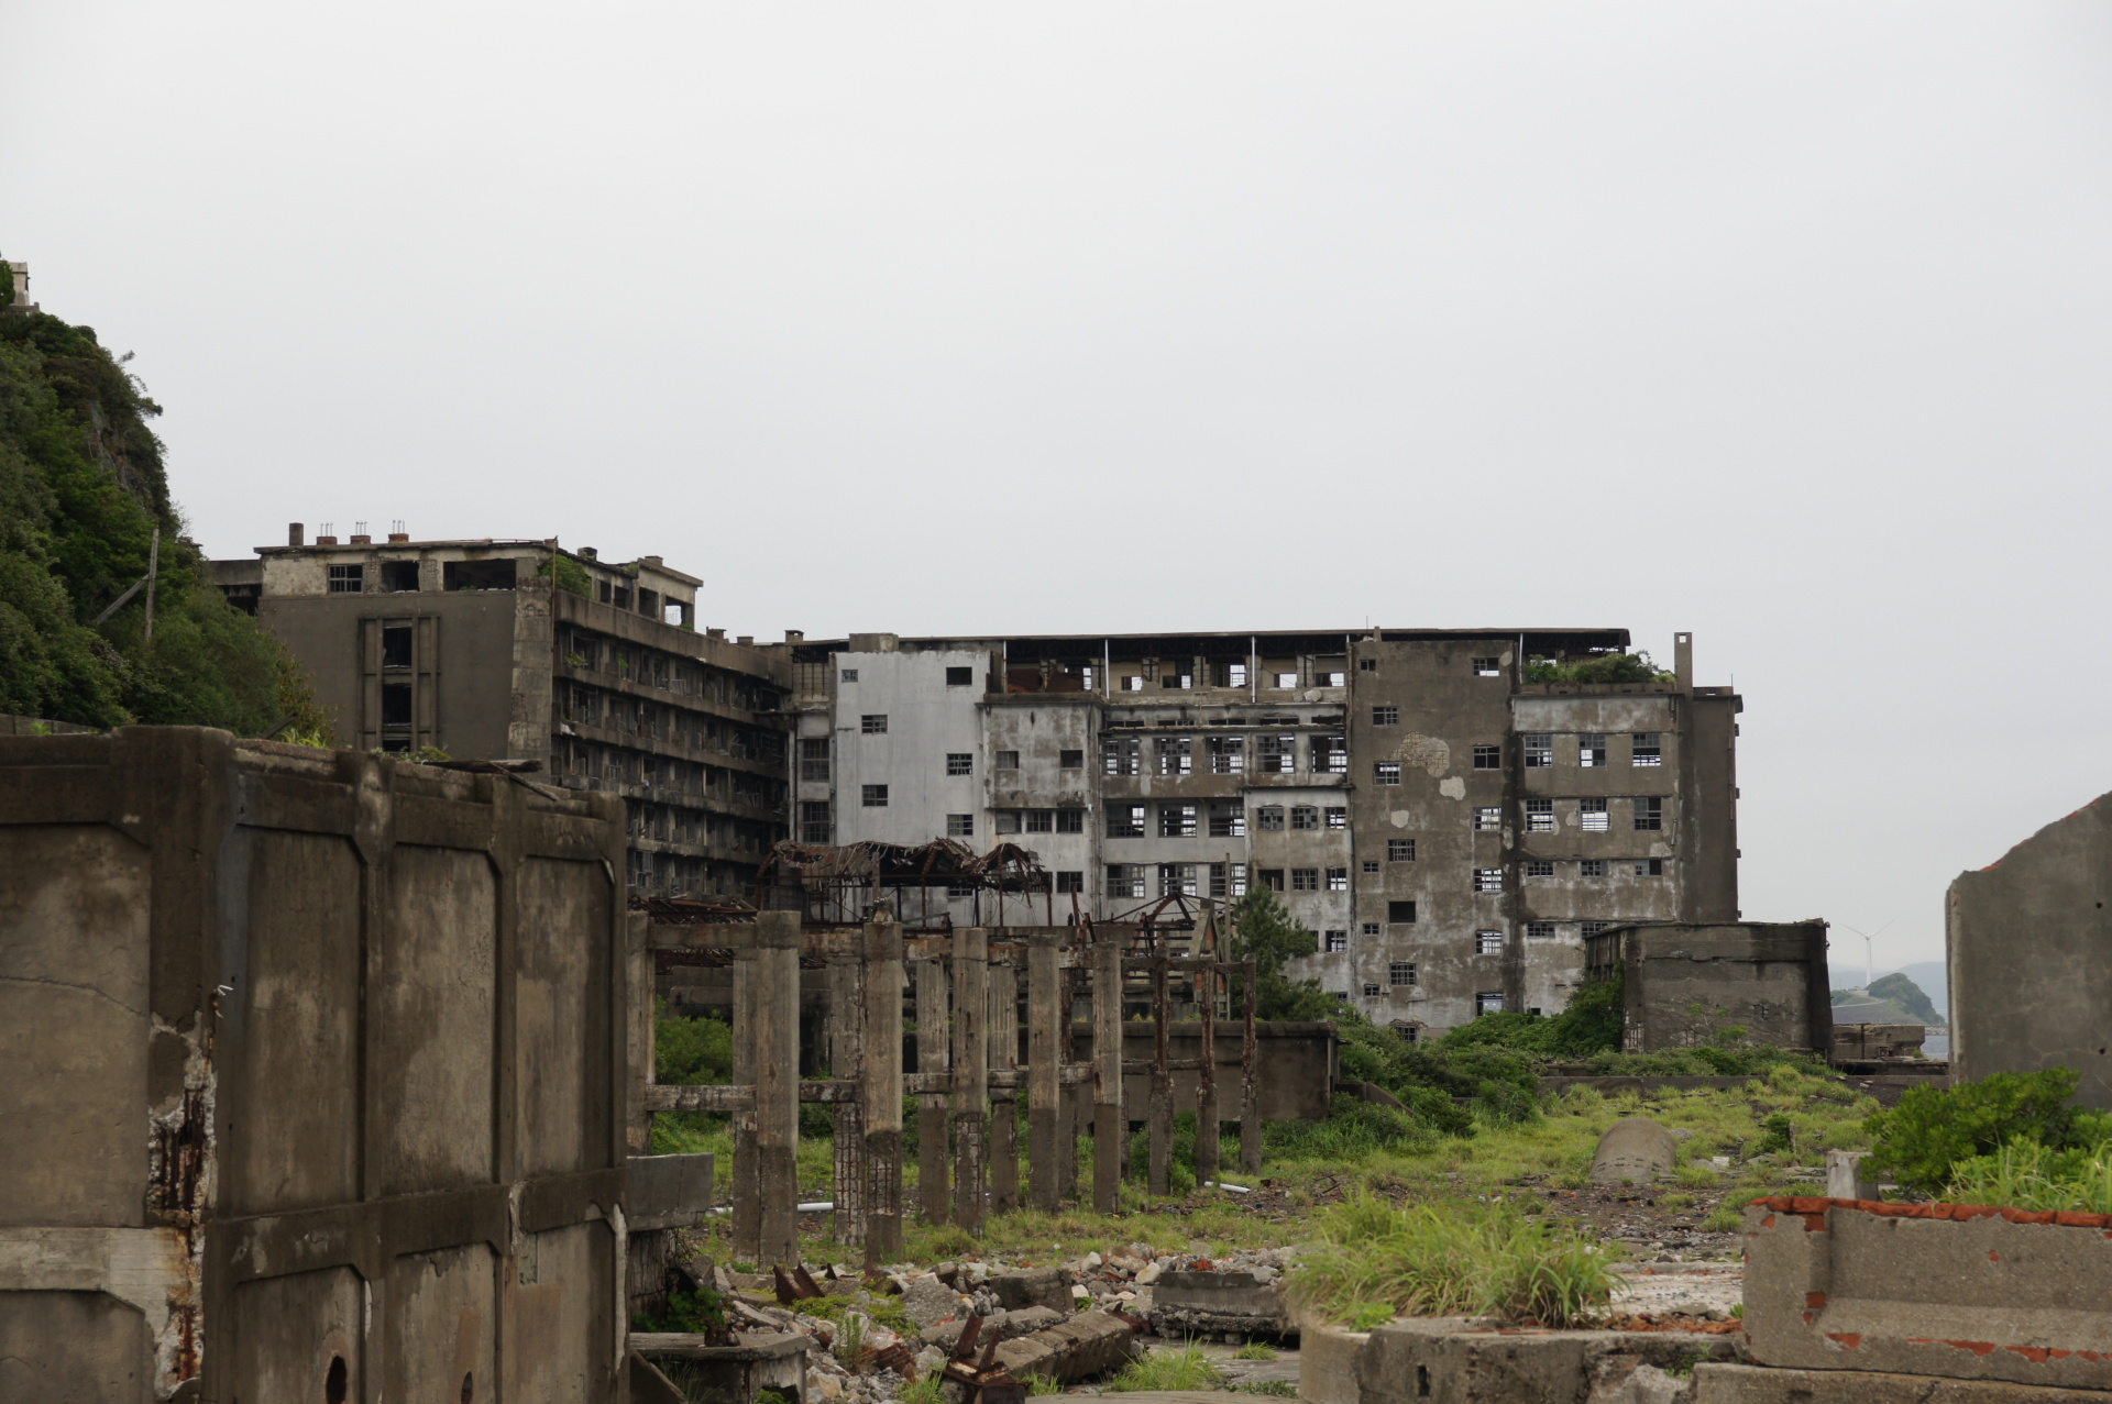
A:
<svg viewBox="0 0 2112 1404">
<path fill-rule="evenodd" d="M 1869 1119 L 1869 1170 L 1941 1195 L 1960 1163 L 2032 1142 L 2068 1151 L 2106 1136 L 2108 1119 L 2068 1106 L 2074 1068 L 1996 1073 L 1956 1087 L 1911 1087 L 1899 1106 Z M 1977 1172 L 1983 1174 L 1983 1172 Z"/>
</svg>

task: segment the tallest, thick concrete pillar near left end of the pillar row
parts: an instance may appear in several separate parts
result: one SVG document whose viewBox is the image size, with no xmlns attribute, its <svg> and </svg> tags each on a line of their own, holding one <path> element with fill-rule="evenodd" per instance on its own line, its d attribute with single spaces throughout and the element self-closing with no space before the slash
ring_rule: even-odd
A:
<svg viewBox="0 0 2112 1404">
<path fill-rule="evenodd" d="M 758 1263 L 798 1263 L 798 912 L 756 912 Z"/>
</svg>

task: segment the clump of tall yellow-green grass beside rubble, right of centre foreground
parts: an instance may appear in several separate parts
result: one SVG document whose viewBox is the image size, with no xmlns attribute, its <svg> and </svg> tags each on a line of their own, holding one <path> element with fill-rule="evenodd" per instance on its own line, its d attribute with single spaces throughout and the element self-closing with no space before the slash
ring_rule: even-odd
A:
<svg viewBox="0 0 2112 1404">
<path fill-rule="evenodd" d="M 1320 1216 L 1322 1252 L 1293 1275 L 1309 1309 L 1350 1324 L 1500 1315 L 1571 1326 L 1614 1296 L 1611 1252 L 1508 1203 L 1394 1208 L 1360 1197 Z"/>
</svg>

